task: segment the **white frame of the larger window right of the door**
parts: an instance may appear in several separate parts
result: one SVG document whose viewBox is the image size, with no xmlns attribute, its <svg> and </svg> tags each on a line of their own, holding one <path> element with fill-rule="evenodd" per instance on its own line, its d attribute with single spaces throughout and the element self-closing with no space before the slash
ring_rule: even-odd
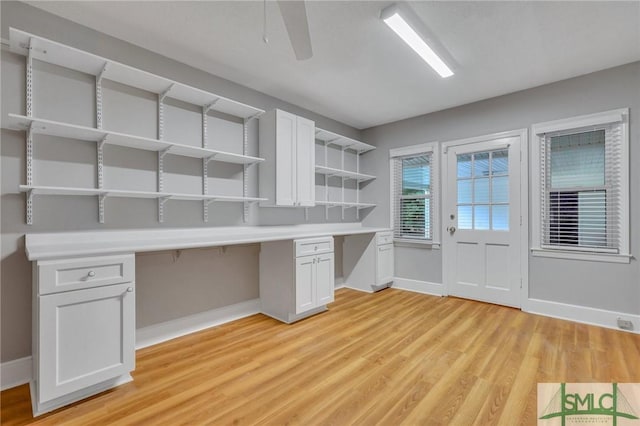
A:
<svg viewBox="0 0 640 426">
<path fill-rule="evenodd" d="M 541 241 L 542 235 L 542 202 L 541 197 L 546 188 L 542 187 L 540 154 L 542 144 L 549 133 L 569 133 L 580 131 L 586 127 L 603 125 L 620 126 L 620 240 L 618 253 L 611 253 L 610 248 L 585 248 L 576 246 L 575 249 L 566 246 L 549 247 Z M 629 263 L 629 109 L 621 108 L 577 117 L 536 123 L 531 126 L 533 136 L 532 145 L 532 247 L 533 256 L 552 257 L 560 259 L 575 259 L 599 262 Z"/>
</svg>

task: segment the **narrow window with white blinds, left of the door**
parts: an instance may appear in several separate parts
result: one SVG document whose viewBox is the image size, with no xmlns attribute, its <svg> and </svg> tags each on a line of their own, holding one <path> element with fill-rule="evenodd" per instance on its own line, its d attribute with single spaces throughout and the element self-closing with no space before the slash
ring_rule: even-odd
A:
<svg viewBox="0 0 640 426">
<path fill-rule="evenodd" d="M 394 238 L 432 240 L 434 226 L 433 154 L 393 158 Z"/>
</svg>

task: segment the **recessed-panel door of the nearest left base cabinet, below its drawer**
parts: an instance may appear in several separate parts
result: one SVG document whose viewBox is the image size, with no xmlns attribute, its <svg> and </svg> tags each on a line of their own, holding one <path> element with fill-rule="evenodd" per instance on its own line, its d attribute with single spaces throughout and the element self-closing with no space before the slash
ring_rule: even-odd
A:
<svg viewBox="0 0 640 426">
<path fill-rule="evenodd" d="M 46 402 L 134 369 L 133 284 L 38 296 L 38 400 Z"/>
</svg>

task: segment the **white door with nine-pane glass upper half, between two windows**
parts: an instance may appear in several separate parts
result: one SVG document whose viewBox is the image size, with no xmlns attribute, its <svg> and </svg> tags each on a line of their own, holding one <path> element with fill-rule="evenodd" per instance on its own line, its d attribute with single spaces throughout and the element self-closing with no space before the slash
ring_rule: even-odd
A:
<svg viewBox="0 0 640 426">
<path fill-rule="evenodd" d="M 520 306 L 520 145 L 514 136 L 445 150 L 443 266 L 452 296 Z"/>
</svg>

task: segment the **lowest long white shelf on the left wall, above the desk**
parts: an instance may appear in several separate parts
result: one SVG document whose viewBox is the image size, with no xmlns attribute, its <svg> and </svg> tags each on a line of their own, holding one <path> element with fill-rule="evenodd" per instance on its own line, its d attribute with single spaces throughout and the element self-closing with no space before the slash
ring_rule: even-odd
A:
<svg viewBox="0 0 640 426">
<path fill-rule="evenodd" d="M 232 195 L 202 195 L 202 194 L 179 194 L 172 192 L 147 192 L 147 191 L 125 191 L 121 189 L 96 189 L 96 188 L 72 188 L 65 186 L 38 186 L 20 185 L 20 192 L 31 191 L 34 195 L 102 195 L 105 197 L 117 198 L 150 198 L 169 200 L 193 200 L 193 201 L 216 201 L 216 202 L 258 202 L 265 201 L 265 198 L 238 197 Z"/>
</svg>

